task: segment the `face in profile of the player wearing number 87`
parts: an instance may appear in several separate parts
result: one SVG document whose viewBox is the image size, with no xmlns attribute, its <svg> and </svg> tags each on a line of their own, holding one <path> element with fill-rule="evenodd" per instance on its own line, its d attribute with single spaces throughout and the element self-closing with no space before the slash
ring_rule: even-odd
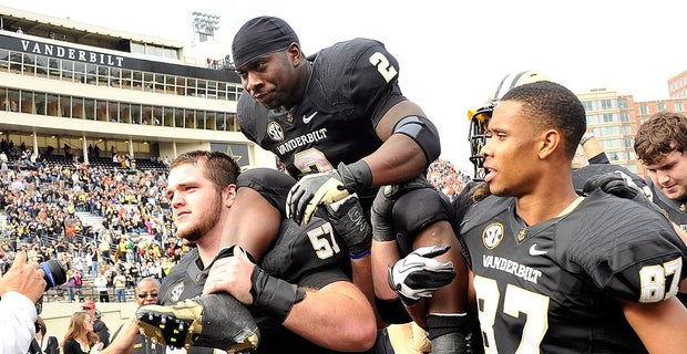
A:
<svg viewBox="0 0 687 354">
<path fill-rule="evenodd" d="M 482 148 L 489 170 L 484 180 L 496 196 L 523 196 L 535 177 L 536 136 L 521 107 L 519 102 L 502 101 L 489 122 L 491 138 Z"/>
</svg>

